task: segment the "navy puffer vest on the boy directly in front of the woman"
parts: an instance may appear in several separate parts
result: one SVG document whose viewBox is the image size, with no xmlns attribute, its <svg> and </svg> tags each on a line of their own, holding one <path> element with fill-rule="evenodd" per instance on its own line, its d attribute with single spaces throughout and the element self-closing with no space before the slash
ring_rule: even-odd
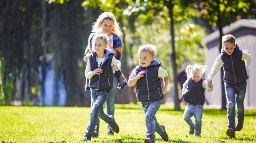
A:
<svg viewBox="0 0 256 143">
<path fill-rule="evenodd" d="M 107 50 L 107 49 L 106 49 Z M 102 66 L 102 73 L 95 74 L 89 81 L 89 87 L 93 89 L 99 90 L 110 90 L 113 88 L 113 69 L 112 69 L 112 58 L 114 53 L 109 53 L 108 51 L 104 51 L 106 53 L 106 57 Z M 96 53 L 95 51 L 89 56 L 91 71 L 99 68 L 96 61 Z"/>
</svg>

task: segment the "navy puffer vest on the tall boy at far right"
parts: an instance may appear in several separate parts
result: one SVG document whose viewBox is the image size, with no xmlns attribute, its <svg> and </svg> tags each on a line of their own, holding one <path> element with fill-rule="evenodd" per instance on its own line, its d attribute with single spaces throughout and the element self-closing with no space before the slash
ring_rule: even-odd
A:
<svg viewBox="0 0 256 143">
<path fill-rule="evenodd" d="M 236 85 L 246 81 L 247 72 L 245 61 L 242 61 L 243 52 L 239 50 L 238 45 L 231 55 L 228 55 L 224 49 L 221 49 L 221 60 L 224 68 L 224 81 L 228 84 Z"/>
</svg>

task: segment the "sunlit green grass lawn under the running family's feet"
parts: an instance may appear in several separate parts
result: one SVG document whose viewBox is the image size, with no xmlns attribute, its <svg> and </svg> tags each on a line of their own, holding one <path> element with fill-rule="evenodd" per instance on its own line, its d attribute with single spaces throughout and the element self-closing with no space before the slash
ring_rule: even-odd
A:
<svg viewBox="0 0 256 143">
<path fill-rule="evenodd" d="M 167 142 L 256 142 L 256 110 L 245 110 L 243 129 L 236 132 L 235 139 L 229 139 L 226 111 L 204 109 L 201 138 L 197 138 L 188 133 L 189 126 L 182 118 L 184 106 L 182 111 L 173 109 L 173 106 L 161 105 L 156 114 L 169 135 Z M 8 143 L 79 143 L 87 130 L 89 113 L 89 107 L 0 106 L 0 139 Z M 145 116 L 139 104 L 116 105 L 115 120 L 120 128 L 118 134 L 106 135 L 107 125 L 100 120 L 99 138 L 88 142 L 144 143 Z M 155 135 L 156 143 L 165 142 Z"/>
</svg>

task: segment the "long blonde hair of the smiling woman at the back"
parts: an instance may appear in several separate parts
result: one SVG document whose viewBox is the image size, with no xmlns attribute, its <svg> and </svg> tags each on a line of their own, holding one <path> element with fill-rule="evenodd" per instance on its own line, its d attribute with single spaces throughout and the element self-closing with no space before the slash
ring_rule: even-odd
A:
<svg viewBox="0 0 256 143">
<path fill-rule="evenodd" d="M 117 21 L 115 19 L 115 16 L 114 16 L 114 14 L 112 12 L 104 12 L 104 13 L 102 13 L 98 17 L 97 21 L 95 23 L 93 23 L 92 32 L 96 32 L 96 33 L 102 32 L 101 31 L 101 24 L 102 24 L 104 19 L 108 19 L 108 20 L 112 20 L 113 21 L 114 24 L 113 24 L 112 33 L 114 35 L 116 35 L 116 36 L 120 36 L 121 32 L 119 31 L 119 24 L 117 23 Z"/>
</svg>

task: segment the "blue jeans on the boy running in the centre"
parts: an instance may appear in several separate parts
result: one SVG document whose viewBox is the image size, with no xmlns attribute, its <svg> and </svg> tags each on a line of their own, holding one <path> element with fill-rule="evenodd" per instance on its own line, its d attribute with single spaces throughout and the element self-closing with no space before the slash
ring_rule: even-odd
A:
<svg viewBox="0 0 256 143">
<path fill-rule="evenodd" d="M 141 102 L 141 107 L 145 113 L 145 124 L 146 124 L 146 136 L 151 136 L 151 138 L 155 139 L 155 132 L 159 135 L 163 135 L 164 130 L 159 125 L 156 120 L 156 112 L 158 111 L 161 105 L 161 100 L 150 101 L 150 102 Z"/>
</svg>

